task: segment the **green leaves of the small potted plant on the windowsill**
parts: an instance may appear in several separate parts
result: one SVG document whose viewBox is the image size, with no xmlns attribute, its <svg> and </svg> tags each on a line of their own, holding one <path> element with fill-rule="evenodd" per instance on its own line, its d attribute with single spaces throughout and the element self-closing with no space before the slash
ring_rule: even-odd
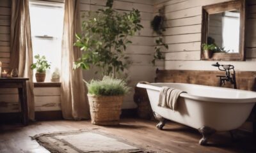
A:
<svg viewBox="0 0 256 153">
<path fill-rule="evenodd" d="M 37 59 L 37 61 L 33 64 L 31 64 L 30 68 L 31 69 L 36 69 L 36 72 L 38 73 L 45 73 L 46 69 L 50 69 L 50 64 L 48 64 L 45 56 L 43 55 L 42 57 L 40 57 L 39 54 L 35 55 L 35 59 Z"/>
</svg>

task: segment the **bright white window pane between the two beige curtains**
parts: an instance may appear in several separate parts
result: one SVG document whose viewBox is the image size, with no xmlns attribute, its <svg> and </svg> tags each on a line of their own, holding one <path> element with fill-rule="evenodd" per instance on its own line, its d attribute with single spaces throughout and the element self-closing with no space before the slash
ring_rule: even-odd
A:
<svg viewBox="0 0 256 153">
<path fill-rule="evenodd" d="M 47 61 L 51 62 L 51 69 L 46 71 L 45 78 L 45 82 L 49 82 L 52 72 L 61 68 L 64 5 L 31 0 L 29 13 L 33 55 L 45 55 Z"/>
</svg>

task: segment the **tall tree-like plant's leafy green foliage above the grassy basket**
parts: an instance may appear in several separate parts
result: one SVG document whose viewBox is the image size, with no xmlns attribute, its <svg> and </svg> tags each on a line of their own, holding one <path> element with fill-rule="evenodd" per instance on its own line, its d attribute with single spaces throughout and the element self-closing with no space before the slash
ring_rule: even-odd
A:
<svg viewBox="0 0 256 153">
<path fill-rule="evenodd" d="M 83 55 L 77 59 L 74 69 L 90 69 L 97 66 L 102 76 L 116 76 L 129 65 L 124 51 L 132 41 L 133 36 L 143 26 L 140 24 L 140 11 L 118 13 L 112 8 L 113 0 L 108 0 L 108 8 L 89 12 L 82 23 L 82 33 L 76 34 L 74 43 L 83 50 Z"/>
</svg>

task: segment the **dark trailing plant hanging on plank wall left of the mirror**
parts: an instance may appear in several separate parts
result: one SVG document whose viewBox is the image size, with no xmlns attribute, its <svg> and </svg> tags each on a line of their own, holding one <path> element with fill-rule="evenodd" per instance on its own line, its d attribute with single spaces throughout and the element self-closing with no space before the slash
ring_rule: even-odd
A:
<svg viewBox="0 0 256 153">
<path fill-rule="evenodd" d="M 155 40 L 156 47 L 154 59 L 152 60 L 152 64 L 155 66 L 156 60 L 164 59 L 164 55 L 162 54 L 163 48 L 168 49 L 168 45 L 163 41 L 163 32 L 165 31 L 163 9 L 159 10 L 159 15 L 156 15 L 150 24 L 154 33 L 156 33 L 158 36 L 158 38 Z"/>
</svg>

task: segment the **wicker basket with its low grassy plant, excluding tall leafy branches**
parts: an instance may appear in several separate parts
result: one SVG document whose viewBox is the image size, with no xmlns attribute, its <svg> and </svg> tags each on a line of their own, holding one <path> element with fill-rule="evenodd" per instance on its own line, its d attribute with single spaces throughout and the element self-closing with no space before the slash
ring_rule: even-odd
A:
<svg viewBox="0 0 256 153">
<path fill-rule="evenodd" d="M 129 87 L 122 79 L 103 77 L 86 82 L 92 124 L 115 126 L 119 124 L 122 101 Z"/>
</svg>

